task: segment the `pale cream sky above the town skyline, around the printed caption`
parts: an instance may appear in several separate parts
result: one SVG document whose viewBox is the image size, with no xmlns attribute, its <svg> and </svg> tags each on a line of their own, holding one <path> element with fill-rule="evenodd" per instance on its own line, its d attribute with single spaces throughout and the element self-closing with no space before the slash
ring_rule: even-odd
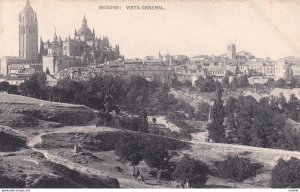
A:
<svg viewBox="0 0 300 192">
<path fill-rule="evenodd" d="M 26 0 L 0 0 L 0 56 L 18 55 L 18 16 Z M 30 0 L 39 37 L 63 39 L 81 27 L 85 13 L 97 36 L 119 43 L 126 58 L 165 54 L 219 55 L 233 42 L 257 57 L 300 57 L 300 1 L 200 0 L 103 1 Z M 117 5 L 121 10 L 100 10 Z M 127 10 L 129 5 L 162 5 L 165 10 Z"/>
</svg>

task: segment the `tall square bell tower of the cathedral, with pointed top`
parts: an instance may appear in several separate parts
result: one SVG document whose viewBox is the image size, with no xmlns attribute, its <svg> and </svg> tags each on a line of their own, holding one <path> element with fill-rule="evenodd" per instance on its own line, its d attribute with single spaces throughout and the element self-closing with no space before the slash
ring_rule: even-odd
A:
<svg viewBox="0 0 300 192">
<path fill-rule="evenodd" d="M 38 61 L 38 21 L 29 0 L 19 14 L 19 56 L 27 62 Z"/>
</svg>

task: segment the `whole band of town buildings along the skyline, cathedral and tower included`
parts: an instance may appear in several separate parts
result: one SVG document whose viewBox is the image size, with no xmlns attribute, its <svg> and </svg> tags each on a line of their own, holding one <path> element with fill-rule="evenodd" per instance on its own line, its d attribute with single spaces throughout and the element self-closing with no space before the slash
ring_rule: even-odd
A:
<svg viewBox="0 0 300 192">
<path fill-rule="evenodd" d="M 35 72 L 45 72 L 50 85 L 60 79 L 88 80 L 97 75 L 121 77 L 142 76 L 149 81 L 159 80 L 171 84 L 173 80 L 194 82 L 199 76 L 225 76 L 245 74 L 249 77 L 291 79 L 300 75 L 300 58 L 277 60 L 256 58 L 249 52 L 236 51 L 231 43 L 227 53 L 220 56 L 162 55 L 143 59 L 124 59 L 119 45 L 111 46 L 108 37 L 96 37 L 84 16 L 82 25 L 63 40 L 56 34 L 50 41 L 40 39 L 38 46 L 37 14 L 27 0 L 19 14 L 19 56 L 1 58 L 0 81 L 19 85 Z"/>
</svg>

